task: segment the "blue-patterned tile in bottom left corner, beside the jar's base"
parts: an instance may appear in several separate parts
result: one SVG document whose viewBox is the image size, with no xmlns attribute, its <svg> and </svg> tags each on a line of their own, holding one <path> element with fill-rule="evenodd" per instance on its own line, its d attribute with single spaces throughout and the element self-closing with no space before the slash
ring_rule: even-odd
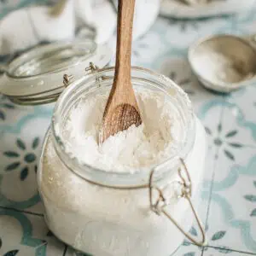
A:
<svg viewBox="0 0 256 256">
<path fill-rule="evenodd" d="M 63 255 L 65 245 L 50 234 L 40 216 L 0 207 L 0 226 L 0 255 Z"/>
</svg>

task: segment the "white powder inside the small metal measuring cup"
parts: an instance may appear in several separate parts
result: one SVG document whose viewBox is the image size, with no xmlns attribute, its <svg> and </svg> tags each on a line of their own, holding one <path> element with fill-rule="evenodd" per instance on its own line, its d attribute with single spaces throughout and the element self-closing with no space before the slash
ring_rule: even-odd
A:
<svg viewBox="0 0 256 256">
<path fill-rule="evenodd" d="M 196 73 L 212 83 L 238 83 L 253 77 L 245 70 L 245 63 L 235 56 L 224 55 L 213 50 L 202 50 L 193 59 Z"/>
</svg>

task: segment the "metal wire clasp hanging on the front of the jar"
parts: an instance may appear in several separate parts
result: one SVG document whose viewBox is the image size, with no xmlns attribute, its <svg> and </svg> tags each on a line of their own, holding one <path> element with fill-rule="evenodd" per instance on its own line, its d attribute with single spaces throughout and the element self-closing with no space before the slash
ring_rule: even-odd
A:
<svg viewBox="0 0 256 256">
<path fill-rule="evenodd" d="M 187 166 L 186 166 L 184 160 L 180 159 L 180 161 L 181 161 L 181 165 L 183 166 L 183 168 L 181 168 L 181 167 L 178 168 L 178 176 L 180 177 L 181 180 L 178 181 L 177 183 L 179 183 L 182 186 L 181 194 L 179 195 L 179 197 L 183 197 L 187 201 L 189 201 L 189 207 L 191 208 L 191 210 L 194 214 L 196 223 L 199 227 L 199 230 L 201 231 L 201 241 L 196 241 L 192 236 L 189 235 L 188 232 L 184 231 L 183 228 L 181 227 L 181 225 L 178 224 L 177 221 L 174 218 L 172 218 L 170 213 L 166 211 L 166 207 L 168 206 L 168 204 L 166 203 L 166 197 L 164 196 L 162 190 L 158 187 L 155 187 L 153 184 L 154 170 L 150 173 L 150 177 L 149 177 L 150 208 L 157 215 L 160 215 L 161 213 L 163 213 L 167 218 L 169 218 L 172 221 L 172 223 L 177 227 L 177 229 L 180 230 L 183 233 L 183 235 L 189 239 L 189 241 L 192 241 L 197 246 L 204 247 L 207 245 L 207 238 L 206 238 L 205 230 L 203 229 L 203 226 L 201 224 L 201 220 L 200 220 L 197 212 L 195 211 L 195 207 L 193 206 L 193 203 L 191 201 L 191 195 L 192 195 L 191 178 L 189 176 L 189 171 L 187 169 Z M 156 191 L 158 191 L 158 193 L 159 193 L 159 197 L 155 203 L 153 202 L 154 189 Z"/>
</svg>

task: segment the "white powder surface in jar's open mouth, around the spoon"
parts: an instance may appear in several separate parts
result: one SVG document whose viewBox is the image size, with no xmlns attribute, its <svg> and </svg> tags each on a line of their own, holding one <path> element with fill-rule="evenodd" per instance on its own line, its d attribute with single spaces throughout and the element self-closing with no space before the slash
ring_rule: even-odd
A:
<svg viewBox="0 0 256 256">
<path fill-rule="evenodd" d="M 160 164 L 177 152 L 184 134 L 177 109 L 163 93 L 151 90 L 137 93 L 143 125 L 133 125 L 99 146 L 107 99 L 108 94 L 82 98 L 70 110 L 64 128 L 69 154 L 107 172 L 136 172 Z"/>
</svg>

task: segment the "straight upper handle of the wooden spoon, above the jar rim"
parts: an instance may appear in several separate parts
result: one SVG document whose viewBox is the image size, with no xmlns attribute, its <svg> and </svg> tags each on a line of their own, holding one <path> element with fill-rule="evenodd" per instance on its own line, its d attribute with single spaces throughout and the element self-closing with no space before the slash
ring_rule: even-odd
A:
<svg viewBox="0 0 256 256">
<path fill-rule="evenodd" d="M 134 6 L 135 0 L 119 0 L 114 78 L 117 80 L 122 79 L 122 84 L 124 85 L 131 84 L 131 42 Z"/>
</svg>

